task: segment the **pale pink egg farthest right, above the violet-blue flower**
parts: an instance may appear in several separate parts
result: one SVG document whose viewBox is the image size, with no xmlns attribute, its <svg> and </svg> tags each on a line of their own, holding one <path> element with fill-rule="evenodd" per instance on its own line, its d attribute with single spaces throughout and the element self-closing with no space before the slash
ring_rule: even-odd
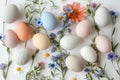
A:
<svg viewBox="0 0 120 80">
<path fill-rule="evenodd" d="M 102 53 L 108 53 L 112 50 L 111 41 L 103 35 L 99 35 L 95 38 L 97 49 Z"/>
</svg>

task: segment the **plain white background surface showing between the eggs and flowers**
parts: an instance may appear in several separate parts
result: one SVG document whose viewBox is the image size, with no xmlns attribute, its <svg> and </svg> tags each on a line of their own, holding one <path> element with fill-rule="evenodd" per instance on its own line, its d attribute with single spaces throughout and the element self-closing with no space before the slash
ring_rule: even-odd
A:
<svg viewBox="0 0 120 80">
<path fill-rule="evenodd" d="M 59 5 L 59 9 L 52 9 L 52 11 L 55 13 L 55 15 L 57 16 L 58 13 L 60 13 L 62 11 L 62 6 L 66 3 L 72 3 L 72 2 L 80 2 L 82 5 L 85 5 L 87 3 L 87 0 L 66 0 L 65 2 L 61 2 L 60 0 L 55 0 L 57 2 L 57 4 Z M 93 2 L 98 2 L 98 3 L 101 3 L 103 6 L 107 7 L 109 10 L 115 10 L 115 11 L 118 11 L 120 12 L 120 0 L 93 0 Z M 7 4 L 16 4 L 19 9 L 21 9 L 23 7 L 23 3 L 24 3 L 24 0 L 8 0 L 8 3 Z M 5 0 L 0 0 L 0 33 L 2 33 L 2 21 L 3 21 L 3 12 L 4 12 L 4 8 L 5 8 Z M 51 8 L 49 8 L 48 10 L 51 11 Z M 102 19 L 101 19 L 102 20 Z M 18 22 L 15 22 L 13 24 L 6 24 L 6 29 L 13 29 L 15 30 L 15 27 L 17 25 Z M 120 42 L 120 17 L 117 19 L 117 22 L 116 22 L 116 25 L 115 27 L 117 27 L 117 31 L 115 33 L 115 41 L 118 41 Z M 104 34 L 104 35 L 108 35 L 110 37 L 110 34 L 111 34 L 111 27 L 112 25 L 109 25 L 109 26 L 106 26 L 104 28 L 101 29 L 101 34 Z M 54 32 L 54 31 L 53 31 Z M 91 42 L 91 38 L 92 36 L 89 37 L 89 39 L 86 39 L 84 41 L 83 44 L 90 44 Z M 80 47 L 83 46 L 83 44 L 81 44 L 79 47 L 77 47 L 76 49 L 73 49 L 71 50 L 71 54 L 74 54 L 74 55 L 79 55 L 80 56 L 80 53 L 79 53 L 79 50 L 80 50 Z M 28 44 L 28 47 L 31 47 L 31 43 Z M 11 56 L 11 59 L 14 58 L 14 54 L 17 53 L 17 50 L 20 49 L 21 47 L 23 47 L 23 45 L 21 44 L 20 46 L 18 46 L 17 48 L 15 49 L 12 49 L 12 56 Z M 120 46 L 119 46 L 120 48 Z M 120 49 L 117 49 L 117 54 L 120 55 Z M 41 51 L 36 59 L 35 59 L 35 63 L 34 65 L 36 65 L 39 61 L 45 61 L 46 64 L 49 62 L 49 59 L 46 59 L 44 57 L 44 53 L 45 52 L 50 52 L 49 49 L 48 50 L 45 50 L 45 51 Z M 104 65 L 105 63 L 107 63 L 107 66 L 106 66 L 106 73 L 111 76 L 111 77 L 114 77 L 114 80 L 120 80 L 120 77 L 116 74 L 116 72 L 113 70 L 113 67 L 111 66 L 111 63 L 110 61 L 107 60 L 107 54 L 100 54 L 100 58 L 101 58 L 101 65 Z M 5 48 L 0 44 L 0 63 L 3 62 L 3 63 L 6 63 L 7 62 L 7 53 L 6 53 L 6 50 Z M 9 73 L 8 73 L 8 78 L 7 80 L 25 80 L 25 74 L 26 72 L 28 71 L 29 67 L 30 67 L 30 64 L 31 64 L 31 60 L 24 66 L 21 66 L 22 67 L 22 72 L 21 73 L 16 73 L 15 72 L 15 68 L 17 67 L 17 65 L 14 63 L 13 61 L 13 64 L 10 66 L 10 70 L 9 70 Z M 48 68 L 44 71 L 44 74 L 45 75 L 49 75 L 48 74 Z M 72 77 L 77 77 L 78 80 L 84 80 L 84 72 L 80 72 L 80 73 L 74 73 L 74 72 L 71 72 L 71 71 L 68 71 L 67 75 L 66 75 L 66 80 L 70 80 Z M 0 73 L 0 80 L 3 80 L 2 78 L 2 74 Z M 59 80 L 59 79 L 56 79 L 56 80 Z M 97 80 L 94 78 L 94 80 Z M 103 79 L 101 79 L 103 80 Z"/>
</svg>

